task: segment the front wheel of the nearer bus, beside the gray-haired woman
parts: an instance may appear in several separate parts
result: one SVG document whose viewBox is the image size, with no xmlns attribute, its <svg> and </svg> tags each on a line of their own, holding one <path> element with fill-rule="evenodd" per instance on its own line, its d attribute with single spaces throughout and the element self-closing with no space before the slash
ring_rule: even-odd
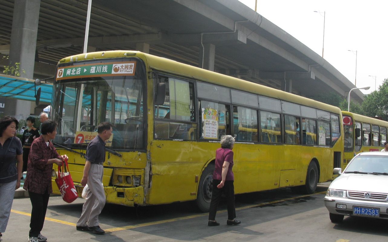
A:
<svg viewBox="0 0 388 242">
<path fill-rule="evenodd" d="M 197 206 L 204 213 L 209 212 L 210 209 L 211 192 L 213 190 L 213 172 L 214 163 L 210 163 L 206 166 L 199 179 Z"/>
</svg>

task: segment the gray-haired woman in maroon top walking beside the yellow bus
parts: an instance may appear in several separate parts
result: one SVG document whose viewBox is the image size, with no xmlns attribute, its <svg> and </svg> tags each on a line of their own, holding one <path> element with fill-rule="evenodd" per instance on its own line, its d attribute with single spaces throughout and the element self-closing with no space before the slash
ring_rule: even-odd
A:
<svg viewBox="0 0 388 242">
<path fill-rule="evenodd" d="M 227 199 L 228 220 L 227 225 L 238 225 L 241 221 L 236 220 L 236 209 L 234 207 L 234 174 L 233 167 L 233 145 L 234 138 L 231 135 L 221 137 L 221 148 L 216 150 L 216 162 L 213 172 L 213 190 L 211 193 L 209 222 L 208 226 L 220 225 L 215 218 L 217 206 L 220 203 L 221 194 L 224 193 Z"/>
</svg>

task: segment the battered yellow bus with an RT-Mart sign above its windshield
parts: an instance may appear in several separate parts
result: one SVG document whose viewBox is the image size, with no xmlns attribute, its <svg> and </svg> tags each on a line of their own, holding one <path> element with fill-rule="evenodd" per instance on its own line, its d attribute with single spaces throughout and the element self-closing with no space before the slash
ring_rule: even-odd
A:
<svg viewBox="0 0 388 242">
<path fill-rule="evenodd" d="M 338 107 L 137 51 L 61 59 L 51 117 L 79 192 L 87 142 L 100 122 L 114 125 L 103 185 L 108 203 L 126 206 L 196 201 L 208 211 L 222 135 L 236 138 L 236 194 L 313 193 L 343 157 Z"/>
</svg>

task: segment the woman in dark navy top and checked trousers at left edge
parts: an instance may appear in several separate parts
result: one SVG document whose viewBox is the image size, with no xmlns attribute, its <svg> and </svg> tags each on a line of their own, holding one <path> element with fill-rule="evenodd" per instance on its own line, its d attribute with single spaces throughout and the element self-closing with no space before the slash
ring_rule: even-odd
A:
<svg viewBox="0 0 388 242">
<path fill-rule="evenodd" d="M 0 240 L 7 228 L 23 168 L 22 143 L 15 135 L 17 124 L 10 116 L 0 119 Z"/>
</svg>

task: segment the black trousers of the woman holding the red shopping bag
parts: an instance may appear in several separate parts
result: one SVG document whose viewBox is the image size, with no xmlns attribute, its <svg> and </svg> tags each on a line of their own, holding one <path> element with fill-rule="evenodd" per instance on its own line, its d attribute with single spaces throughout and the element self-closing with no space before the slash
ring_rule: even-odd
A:
<svg viewBox="0 0 388 242">
<path fill-rule="evenodd" d="M 45 222 L 50 194 L 46 190 L 45 194 L 28 192 L 28 195 L 32 204 L 31 222 L 29 224 L 31 229 L 29 230 L 29 237 L 38 237 L 43 228 L 43 223 Z"/>
</svg>

